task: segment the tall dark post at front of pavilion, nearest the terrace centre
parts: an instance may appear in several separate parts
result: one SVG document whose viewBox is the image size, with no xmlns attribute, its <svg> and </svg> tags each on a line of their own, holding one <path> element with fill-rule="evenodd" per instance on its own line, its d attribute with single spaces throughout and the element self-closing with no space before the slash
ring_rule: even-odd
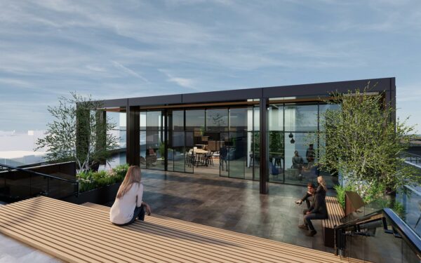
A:
<svg viewBox="0 0 421 263">
<path fill-rule="evenodd" d="M 269 180 L 267 163 L 269 159 L 267 139 L 267 107 L 269 100 L 267 97 L 260 97 L 260 194 L 269 194 Z"/>
</svg>

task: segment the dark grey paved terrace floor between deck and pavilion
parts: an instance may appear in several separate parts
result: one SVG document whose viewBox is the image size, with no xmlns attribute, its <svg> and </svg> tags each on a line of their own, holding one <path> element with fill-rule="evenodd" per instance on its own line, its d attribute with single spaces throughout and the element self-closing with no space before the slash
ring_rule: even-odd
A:
<svg viewBox="0 0 421 263">
<path fill-rule="evenodd" d="M 294 201 L 305 187 L 270 184 L 269 195 L 261 195 L 258 182 L 152 170 L 143 171 L 142 181 L 153 213 L 333 252 L 323 245 L 320 222 L 314 237 L 298 229 L 305 205 Z"/>
</svg>

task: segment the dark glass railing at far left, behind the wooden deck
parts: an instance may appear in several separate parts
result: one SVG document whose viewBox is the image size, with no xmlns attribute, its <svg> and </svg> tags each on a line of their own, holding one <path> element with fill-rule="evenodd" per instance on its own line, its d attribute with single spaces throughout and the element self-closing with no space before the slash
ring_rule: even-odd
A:
<svg viewBox="0 0 421 263">
<path fill-rule="evenodd" d="M 12 203 L 34 196 L 65 198 L 78 193 L 76 180 L 0 164 L 0 201 Z"/>
</svg>

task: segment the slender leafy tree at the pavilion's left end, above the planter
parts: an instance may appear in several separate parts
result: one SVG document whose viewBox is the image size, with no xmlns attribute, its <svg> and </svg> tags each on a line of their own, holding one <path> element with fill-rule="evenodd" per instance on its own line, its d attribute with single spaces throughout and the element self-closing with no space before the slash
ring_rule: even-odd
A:
<svg viewBox="0 0 421 263">
<path fill-rule="evenodd" d="M 48 107 L 53 121 L 47 124 L 46 136 L 36 141 L 36 149 L 46 147 L 48 161 L 76 161 L 78 172 L 107 161 L 119 138 L 111 133 L 116 124 L 106 119 L 102 102 L 76 93 L 58 102 Z"/>
</svg>

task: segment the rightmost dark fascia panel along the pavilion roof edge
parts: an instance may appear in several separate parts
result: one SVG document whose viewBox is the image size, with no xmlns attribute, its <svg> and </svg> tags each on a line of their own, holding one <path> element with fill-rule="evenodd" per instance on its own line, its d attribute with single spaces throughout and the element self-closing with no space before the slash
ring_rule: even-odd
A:
<svg viewBox="0 0 421 263">
<path fill-rule="evenodd" d="M 385 79 L 362 79 L 357 81 L 338 81 L 327 83 L 303 84 L 293 86 L 279 86 L 263 88 L 263 97 L 300 97 L 300 96 L 317 96 L 328 95 L 328 93 L 338 90 L 341 93 L 346 93 L 348 90 L 355 90 L 355 88 L 364 88 L 368 81 L 370 87 L 375 83 L 377 86 L 370 89 L 370 91 L 383 91 L 390 89 L 390 80 L 394 78 Z"/>
</svg>

